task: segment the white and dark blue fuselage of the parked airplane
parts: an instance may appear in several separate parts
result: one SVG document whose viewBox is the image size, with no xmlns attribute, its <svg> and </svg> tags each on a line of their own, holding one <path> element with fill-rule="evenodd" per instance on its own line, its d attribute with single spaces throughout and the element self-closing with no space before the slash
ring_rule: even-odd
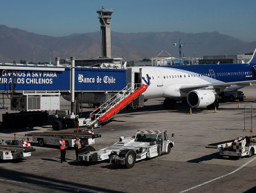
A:
<svg viewBox="0 0 256 193">
<path fill-rule="evenodd" d="M 196 85 L 253 80 L 253 68 L 248 64 L 221 65 L 171 65 L 146 66 L 142 68 L 143 83 L 149 84 L 144 92 L 145 99 L 156 97 L 185 97 L 188 93 L 181 88 Z M 237 90 L 243 86 L 230 85 L 226 90 Z M 220 90 L 223 92 L 223 90 Z"/>
</svg>

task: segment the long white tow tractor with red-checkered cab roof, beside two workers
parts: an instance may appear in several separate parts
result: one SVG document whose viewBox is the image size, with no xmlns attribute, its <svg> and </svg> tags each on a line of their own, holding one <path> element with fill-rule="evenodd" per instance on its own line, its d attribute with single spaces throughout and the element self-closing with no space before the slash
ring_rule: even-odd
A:
<svg viewBox="0 0 256 193">
<path fill-rule="evenodd" d="M 91 146 L 83 148 L 79 160 L 92 162 L 109 159 L 111 163 L 131 168 L 135 161 L 170 154 L 174 146 L 173 139 L 174 134 L 169 140 L 166 131 L 140 130 L 133 137 L 120 136 L 118 142 L 102 150 L 95 151 Z"/>
</svg>

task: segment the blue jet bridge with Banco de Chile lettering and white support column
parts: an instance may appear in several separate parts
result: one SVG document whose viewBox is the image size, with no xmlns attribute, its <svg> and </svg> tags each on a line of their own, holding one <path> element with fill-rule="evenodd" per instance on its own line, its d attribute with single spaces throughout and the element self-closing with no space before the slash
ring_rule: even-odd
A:
<svg viewBox="0 0 256 193">
<path fill-rule="evenodd" d="M 127 96 L 141 86 L 141 69 L 75 67 L 74 60 L 71 57 L 71 65 L 68 66 L 1 64 L 0 93 L 7 94 L 11 99 L 11 110 L 24 112 L 60 111 L 60 95 L 69 94 L 71 96 L 71 114 L 68 116 L 66 114 L 65 117 L 74 120 L 78 119 L 77 113 L 75 113 L 77 112 L 76 105 L 74 105 L 75 96 L 94 94 L 101 98 L 102 101 L 99 103 L 104 103 L 107 99 L 113 100 L 113 96 L 126 88 L 128 84 L 130 86 Z M 145 88 L 143 92 L 145 92 Z M 143 92 L 140 92 L 138 96 Z M 123 97 L 123 99 L 125 98 L 126 96 Z M 134 99 L 129 100 L 129 103 Z M 80 102 L 84 103 L 85 101 Z M 105 119 L 103 121 L 106 121 Z M 91 121 L 89 122 L 91 123 Z M 82 123 L 82 125 L 86 124 Z M 60 129 L 59 126 L 57 128 Z"/>
</svg>

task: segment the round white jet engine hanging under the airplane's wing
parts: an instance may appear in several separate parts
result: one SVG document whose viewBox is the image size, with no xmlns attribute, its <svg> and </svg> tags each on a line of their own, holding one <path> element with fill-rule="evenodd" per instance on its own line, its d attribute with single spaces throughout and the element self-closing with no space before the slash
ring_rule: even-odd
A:
<svg viewBox="0 0 256 193">
<path fill-rule="evenodd" d="M 192 90 L 188 93 L 187 101 L 192 108 L 205 108 L 218 98 L 214 90 Z"/>
</svg>

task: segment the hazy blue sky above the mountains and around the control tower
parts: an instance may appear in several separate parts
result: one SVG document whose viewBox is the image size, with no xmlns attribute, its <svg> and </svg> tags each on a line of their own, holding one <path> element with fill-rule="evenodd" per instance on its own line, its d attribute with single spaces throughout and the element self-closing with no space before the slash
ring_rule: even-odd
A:
<svg viewBox="0 0 256 193">
<path fill-rule="evenodd" d="M 113 10 L 111 31 L 220 32 L 256 41 L 255 0 L 0 0 L 0 24 L 62 37 L 100 31 L 97 10 Z"/>
</svg>

